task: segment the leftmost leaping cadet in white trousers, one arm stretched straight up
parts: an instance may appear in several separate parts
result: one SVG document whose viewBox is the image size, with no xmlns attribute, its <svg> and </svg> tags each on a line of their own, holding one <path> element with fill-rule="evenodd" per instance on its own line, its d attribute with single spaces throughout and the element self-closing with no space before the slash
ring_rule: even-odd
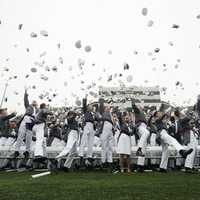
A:
<svg viewBox="0 0 200 200">
<path fill-rule="evenodd" d="M 24 106 L 26 111 L 19 126 L 14 157 L 18 157 L 20 155 L 20 147 L 25 139 L 26 151 L 23 155 L 25 158 L 28 158 L 31 151 L 32 127 L 34 125 L 35 116 L 38 113 L 38 104 L 36 101 L 33 101 L 32 104 L 29 103 L 27 89 L 25 89 L 24 93 Z"/>
</svg>

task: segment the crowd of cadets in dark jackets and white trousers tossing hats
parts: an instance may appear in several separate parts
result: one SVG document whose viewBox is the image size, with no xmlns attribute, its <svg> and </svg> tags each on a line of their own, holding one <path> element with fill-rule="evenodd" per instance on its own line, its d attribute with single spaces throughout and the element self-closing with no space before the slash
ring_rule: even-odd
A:
<svg viewBox="0 0 200 200">
<path fill-rule="evenodd" d="M 62 167 L 67 171 L 77 156 L 80 159 L 76 167 L 92 168 L 96 162 L 93 147 L 98 146 L 101 147 L 101 168 L 122 173 L 143 172 L 150 141 L 151 145 L 162 147 L 161 160 L 151 159 L 151 164 L 160 162 L 158 171 L 167 172 L 169 146 L 173 146 L 177 161 L 182 157 L 185 171 L 193 173 L 199 136 L 199 100 L 192 111 L 184 113 L 178 109 L 165 109 L 163 104 L 158 110 L 150 108 L 145 112 L 134 99 L 131 102 L 132 110 L 122 112 L 120 108 L 105 104 L 103 99 L 88 104 L 86 97 L 82 113 L 70 110 L 61 122 L 44 103 L 39 107 L 36 101 L 30 104 L 26 90 L 25 113 L 17 123 L 16 113 L 8 115 L 6 109 L 0 109 L 0 151 L 3 146 L 13 150 L 0 159 L 0 168 L 13 167 L 13 160 L 23 158 L 26 168 L 47 165 L 52 170 Z M 25 146 L 23 152 L 22 146 Z M 47 146 L 61 151 L 54 158 L 47 158 Z M 134 154 L 137 165 L 134 168 L 131 163 L 133 146 L 137 147 Z M 119 155 L 118 162 L 113 162 L 114 152 Z"/>
</svg>

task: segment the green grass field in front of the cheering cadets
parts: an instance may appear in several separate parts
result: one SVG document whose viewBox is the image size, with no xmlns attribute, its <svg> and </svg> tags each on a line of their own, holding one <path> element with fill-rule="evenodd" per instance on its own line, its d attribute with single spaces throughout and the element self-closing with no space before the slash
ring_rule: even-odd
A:
<svg viewBox="0 0 200 200">
<path fill-rule="evenodd" d="M 200 175 L 77 172 L 32 179 L 33 172 L 1 172 L 0 200 L 198 200 Z"/>
</svg>

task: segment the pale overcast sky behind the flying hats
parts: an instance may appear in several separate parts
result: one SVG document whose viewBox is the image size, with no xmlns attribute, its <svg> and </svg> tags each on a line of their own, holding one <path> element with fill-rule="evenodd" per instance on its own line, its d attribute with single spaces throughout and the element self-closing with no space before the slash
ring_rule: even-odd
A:
<svg viewBox="0 0 200 200">
<path fill-rule="evenodd" d="M 143 8 L 148 9 L 146 16 Z M 51 95 L 58 94 L 51 104 L 60 106 L 65 98 L 74 103 L 72 93 L 83 97 L 86 91 L 81 88 L 92 83 L 118 86 L 119 80 L 127 86 L 166 87 L 163 100 L 192 104 L 200 93 L 199 14 L 199 0 L 0 0 L 0 97 L 6 80 L 17 76 L 9 82 L 4 107 L 22 108 L 25 85 L 36 86 L 29 90 L 31 100 L 51 89 Z M 48 37 L 40 35 L 41 30 Z M 30 37 L 32 32 L 36 38 Z M 78 40 L 81 49 L 75 47 Z M 84 50 L 87 45 L 90 52 Z M 78 59 L 85 61 L 82 70 Z M 34 65 L 42 61 L 43 66 Z M 124 62 L 129 70 L 123 70 Z M 47 72 L 46 66 L 57 66 L 58 71 Z M 38 71 L 32 73 L 32 67 Z M 107 82 L 115 73 L 123 76 Z M 42 80 L 41 74 L 49 80 Z M 127 82 L 128 75 L 132 82 Z M 182 85 L 176 86 L 177 81 Z"/>
</svg>

